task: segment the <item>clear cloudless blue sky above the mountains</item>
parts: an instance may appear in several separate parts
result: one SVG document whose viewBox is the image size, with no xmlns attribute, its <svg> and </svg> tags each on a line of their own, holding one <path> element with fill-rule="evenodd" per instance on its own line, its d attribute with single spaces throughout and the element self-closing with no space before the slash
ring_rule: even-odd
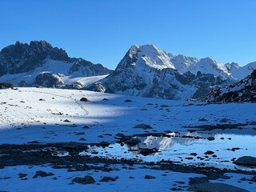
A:
<svg viewBox="0 0 256 192">
<path fill-rule="evenodd" d="M 256 61 L 254 0 L 2 0 L 0 49 L 46 40 L 70 57 L 114 69 L 131 45 Z"/>
</svg>

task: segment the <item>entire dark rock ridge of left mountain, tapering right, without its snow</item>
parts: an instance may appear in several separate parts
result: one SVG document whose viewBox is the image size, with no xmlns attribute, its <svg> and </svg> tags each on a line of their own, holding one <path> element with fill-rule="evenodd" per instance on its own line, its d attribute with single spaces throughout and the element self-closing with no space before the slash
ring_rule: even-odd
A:
<svg viewBox="0 0 256 192">
<path fill-rule="evenodd" d="M 70 74 L 83 70 L 85 76 L 110 74 L 112 70 L 101 64 L 95 65 L 82 58 L 70 58 L 65 50 L 53 47 L 46 41 L 31 41 L 30 44 L 16 42 L 0 51 L 0 76 L 19 74 L 42 66 L 45 60 L 74 62 Z"/>
</svg>

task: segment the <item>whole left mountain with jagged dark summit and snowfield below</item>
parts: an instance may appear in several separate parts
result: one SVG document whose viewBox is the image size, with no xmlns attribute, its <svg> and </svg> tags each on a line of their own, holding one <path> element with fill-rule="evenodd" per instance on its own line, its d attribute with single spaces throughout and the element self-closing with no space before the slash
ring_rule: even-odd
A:
<svg viewBox="0 0 256 192">
<path fill-rule="evenodd" d="M 77 78 L 112 71 L 82 58 L 70 58 L 65 50 L 46 41 L 6 46 L 0 51 L 0 66 L 0 82 L 13 82 L 15 86 L 82 88 L 84 81 Z"/>
</svg>

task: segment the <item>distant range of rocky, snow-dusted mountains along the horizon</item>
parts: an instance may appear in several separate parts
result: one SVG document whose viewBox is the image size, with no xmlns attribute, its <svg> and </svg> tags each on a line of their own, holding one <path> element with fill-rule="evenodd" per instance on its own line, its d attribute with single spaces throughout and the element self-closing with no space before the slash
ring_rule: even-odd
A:
<svg viewBox="0 0 256 192">
<path fill-rule="evenodd" d="M 0 82 L 15 86 L 85 89 L 143 97 L 200 98 L 245 78 L 256 68 L 211 58 L 168 54 L 157 46 L 131 46 L 114 71 L 45 41 L 16 42 L 0 51 Z"/>
</svg>

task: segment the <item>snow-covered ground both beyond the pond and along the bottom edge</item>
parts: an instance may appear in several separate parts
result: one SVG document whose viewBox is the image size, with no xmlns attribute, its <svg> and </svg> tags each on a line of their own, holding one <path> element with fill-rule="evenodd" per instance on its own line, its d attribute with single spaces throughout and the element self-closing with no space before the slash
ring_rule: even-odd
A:
<svg viewBox="0 0 256 192">
<path fill-rule="evenodd" d="M 37 141 L 39 144 L 48 142 L 114 143 L 118 141 L 116 134 L 132 136 L 134 134 L 163 133 L 165 131 L 178 133 L 186 132 L 187 129 L 191 130 L 191 128 L 184 127 L 216 124 L 234 125 L 246 122 L 250 122 L 250 125 L 242 126 L 242 129 L 210 130 L 206 134 L 226 133 L 252 136 L 256 134 L 256 130 L 254 130 L 256 104 L 254 103 L 205 105 L 199 102 L 138 98 L 84 90 L 39 88 L 0 90 L 0 98 L 1 144 L 27 144 L 33 141 Z M 90 102 L 81 102 L 81 98 L 87 98 Z M 127 101 L 127 99 L 130 101 Z M 134 128 L 134 126 L 142 123 L 152 126 L 153 129 Z M 218 142 L 218 136 L 215 136 L 215 138 Z M 228 141 L 228 139 L 225 139 L 225 141 Z M 206 142 L 206 140 L 203 140 L 203 142 Z M 246 141 L 242 142 L 246 146 Z M 164 144 L 166 143 L 162 143 L 162 145 Z M 190 146 L 190 142 L 185 144 Z M 182 145 L 182 142 L 179 145 Z M 244 146 L 243 148 L 245 148 Z M 249 151 L 253 151 L 255 148 L 252 146 L 256 146 L 256 143 L 248 142 L 247 146 Z M 186 154 L 194 152 L 190 151 L 193 150 L 191 147 L 188 147 L 188 150 L 185 152 Z M 182 153 L 184 153 L 184 150 L 182 150 Z M 187 160 L 186 163 L 188 163 Z M 110 172 L 93 169 L 68 172 L 66 169 L 56 170 L 47 165 L 6 166 L 0 169 L 0 178 L 2 178 L 0 179 L 0 190 L 169 191 L 173 187 L 182 187 L 182 190 L 186 190 L 189 186 L 189 178 L 203 176 L 200 174 L 152 170 L 145 167 L 142 169 L 142 166 L 139 165 L 134 165 L 134 167 L 121 164 L 110 166 L 113 168 Z M 38 170 L 51 172 L 54 175 L 46 178 L 33 178 L 35 171 Z M 28 179 L 18 178 L 19 173 L 28 174 L 26 176 Z M 144 178 L 146 174 L 155 178 L 146 179 Z M 70 185 L 73 178 L 86 175 L 93 176 L 96 183 Z M 232 177 L 230 179 L 219 178 L 210 182 L 223 182 L 250 191 L 256 190 L 255 182 L 247 181 L 252 177 L 251 175 L 230 173 L 228 175 Z M 118 179 L 114 182 L 100 182 L 101 177 L 104 176 L 118 177 Z M 246 178 L 246 180 L 238 181 L 241 178 Z M 182 184 L 178 182 L 182 182 Z"/>
</svg>

